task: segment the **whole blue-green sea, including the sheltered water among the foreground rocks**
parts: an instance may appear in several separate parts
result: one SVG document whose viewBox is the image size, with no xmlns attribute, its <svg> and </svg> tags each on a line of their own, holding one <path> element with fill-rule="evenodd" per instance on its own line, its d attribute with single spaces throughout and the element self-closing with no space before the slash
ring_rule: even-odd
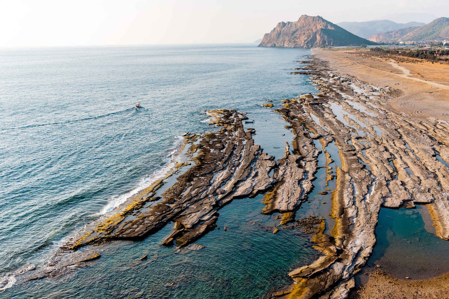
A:
<svg viewBox="0 0 449 299">
<path fill-rule="evenodd" d="M 247 112 L 256 142 L 281 157 L 291 132 L 261 105 L 315 91 L 307 76 L 289 74 L 307 54 L 254 45 L 0 50 L 0 275 L 44 263 L 75 230 L 157 177 L 180 135 L 214 130 L 202 110 Z M 260 297 L 316 257 L 304 235 L 266 228 L 277 222 L 260 215 L 260 201 L 220 210 L 217 224 L 229 230 L 201 238 L 200 251 L 160 246 L 166 227 L 0 298 Z"/>
</svg>

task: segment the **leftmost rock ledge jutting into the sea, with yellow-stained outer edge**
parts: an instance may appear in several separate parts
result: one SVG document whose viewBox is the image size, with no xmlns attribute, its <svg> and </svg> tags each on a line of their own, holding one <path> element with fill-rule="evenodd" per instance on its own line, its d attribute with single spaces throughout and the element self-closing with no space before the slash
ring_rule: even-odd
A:
<svg viewBox="0 0 449 299">
<path fill-rule="evenodd" d="M 244 129 L 247 117 L 225 109 L 207 114 L 210 125 L 220 129 L 185 136 L 181 154 L 189 161 L 176 164 L 165 178 L 85 225 L 49 264 L 29 269 L 21 280 L 53 277 L 69 265 L 100 257 L 92 245 L 141 240 L 169 223 L 173 231 L 162 244 L 185 247 L 213 230 L 218 210 L 233 199 L 268 190 L 276 182 L 269 175 L 276 162 L 254 144 L 254 130 Z"/>
</svg>

